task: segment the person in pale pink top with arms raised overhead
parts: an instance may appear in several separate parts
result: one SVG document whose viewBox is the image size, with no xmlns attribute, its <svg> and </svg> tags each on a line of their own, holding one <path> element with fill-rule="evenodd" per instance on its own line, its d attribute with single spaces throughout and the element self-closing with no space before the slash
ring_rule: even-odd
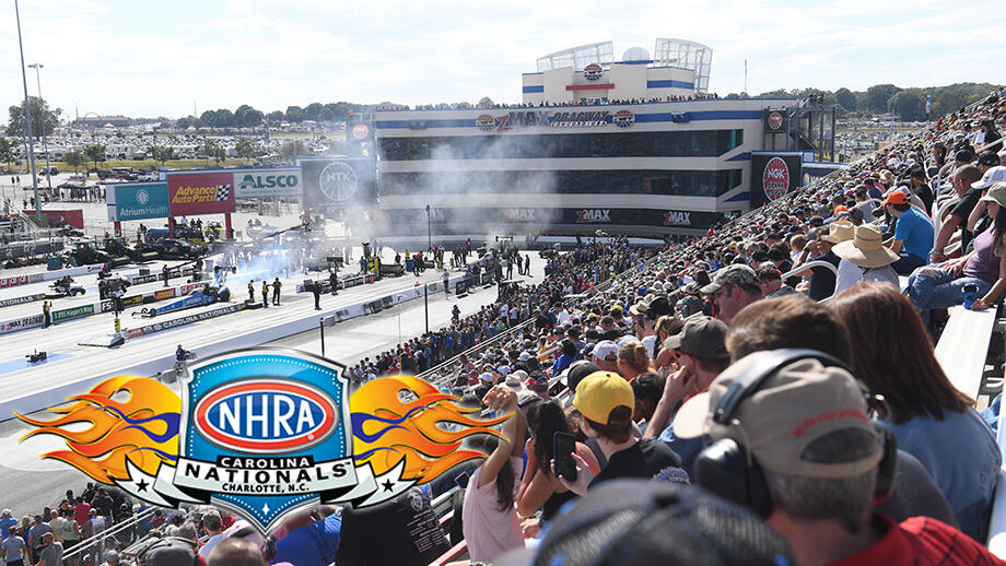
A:
<svg viewBox="0 0 1006 566">
<path fill-rule="evenodd" d="M 472 472 L 465 490 L 461 523 L 471 562 L 492 562 L 507 551 L 524 547 L 514 507 L 517 479 L 524 472 L 524 414 L 517 408 L 517 392 L 505 384 L 490 389 L 482 404 L 508 418 L 503 423 L 502 437 L 480 438 L 489 457 Z"/>
</svg>

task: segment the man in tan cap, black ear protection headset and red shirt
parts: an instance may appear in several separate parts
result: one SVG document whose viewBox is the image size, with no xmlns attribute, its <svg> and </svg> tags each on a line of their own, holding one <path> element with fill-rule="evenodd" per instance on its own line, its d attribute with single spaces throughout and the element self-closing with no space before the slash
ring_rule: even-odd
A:
<svg viewBox="0 0 1006 566">
<path fill-rule="evenodd" d="M 674 427 L 710 435 L 695 482 L 764 517 L 803 566 L 1001 564 L 938 520 L 896 523 L 874 510 L 891 490 L 897 447 L 869 411 L 863 385 L 838 359 L 775 350 L 730 366 L 685 403 Z"/>
</svg>

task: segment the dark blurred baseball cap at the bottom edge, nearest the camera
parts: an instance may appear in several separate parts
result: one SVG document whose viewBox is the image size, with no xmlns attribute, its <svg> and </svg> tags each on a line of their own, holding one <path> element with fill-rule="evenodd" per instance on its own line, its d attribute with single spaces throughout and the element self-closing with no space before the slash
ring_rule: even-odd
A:
<svg viewBox="0 0 1006 566">
<path fill-rule="evenodd" d="M 796 564 L 783 539 L 747 509 L 703 490 L 646 480 L 590 490 L 554 520 L 534 559 L 510 559 L 500 566 Z"/>
</svg>

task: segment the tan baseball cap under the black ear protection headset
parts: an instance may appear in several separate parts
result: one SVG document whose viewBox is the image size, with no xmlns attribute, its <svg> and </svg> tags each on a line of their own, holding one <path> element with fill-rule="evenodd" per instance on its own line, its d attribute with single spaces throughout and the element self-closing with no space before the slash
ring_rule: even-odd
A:
<svg viewBox="0 0 1006 566">
<path fill-rule="evenodd" d="M 747 446 L 763 468 L 788 475 L 851 477 L 876 469 L 884 452 L 879 441 L 874 453 L 854 461 L 821 463 L 802 458 L 811 443 L 837 431 L 852 428 L 877 435 L 856 378 L 815 358 L 797 359 L 769 376 L 734 412 L 733 418 L 740 426 L 712 420 L 720 401 L 737 394 L 732 386 L 771 354 L 745 356 L 720 374 L 706 391 L 688 400 L 675 415 L 675 434 L 681 438 L 707 434 L 713 441 L 733 438 Z"/>
</svg>

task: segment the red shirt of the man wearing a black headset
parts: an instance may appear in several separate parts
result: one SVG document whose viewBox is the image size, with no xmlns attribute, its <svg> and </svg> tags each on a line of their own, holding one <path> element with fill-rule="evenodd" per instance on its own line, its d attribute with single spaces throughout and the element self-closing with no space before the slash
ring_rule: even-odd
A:
<svg viewBox="0 0 1006 566">
<path fill-rule="evenodd" d="M 999 565 L 989 549 L 947 523 L 929 517 L 912 517 L 896 523 L 874 515 L 874 526 L 884 535 L 868 549 L 831 563 L 830 566 L 956 566 Z"/>
</svg>

